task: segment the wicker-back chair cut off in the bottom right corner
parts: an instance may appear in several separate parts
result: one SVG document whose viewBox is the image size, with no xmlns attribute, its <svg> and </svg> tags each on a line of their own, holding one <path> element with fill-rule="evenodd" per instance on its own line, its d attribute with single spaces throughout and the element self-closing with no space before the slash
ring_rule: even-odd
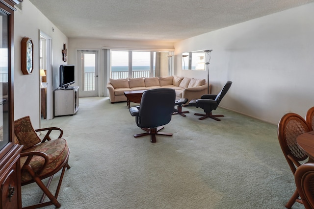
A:
<svg viewBox="0 0 314 209">
<path fill-rule="evenodd" d="M 314 209 L 314 163 L 299 166 L 294 180 L 305 209 Z"/>
</svg>

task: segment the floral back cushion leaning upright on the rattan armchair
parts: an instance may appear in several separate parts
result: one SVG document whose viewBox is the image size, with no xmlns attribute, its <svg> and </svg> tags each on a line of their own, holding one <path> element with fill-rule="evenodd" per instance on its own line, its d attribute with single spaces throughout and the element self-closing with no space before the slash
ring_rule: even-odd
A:
<svg viewBox="0 0 314 209">
<path fill-rule="evenodd" d="M 14 121 L 14 133 L 19 143 L 24 145 L 23 150 L 41 142 L 31 125 L 29 116 Z"/>
</svg>

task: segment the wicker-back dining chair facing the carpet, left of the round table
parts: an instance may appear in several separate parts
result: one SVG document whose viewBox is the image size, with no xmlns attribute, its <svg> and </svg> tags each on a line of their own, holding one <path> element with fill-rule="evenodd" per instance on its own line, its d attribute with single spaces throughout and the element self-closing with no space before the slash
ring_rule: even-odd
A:
<svg viewBox="0 0 314 209">
<path fill-rule="evenodd" d="M 278 123 L 278 140 L 293 175 L 296 168 L 308 158 L 298 147 L 296 139 L 301 134 L 309 131 L 310 128 L 305 119 L 294 113 L 284 115 Z M 286 208 L 290 209 L 295 202 L 302 203 L 297 190 L 294 191 L 286 204 Z"/>
</svg>

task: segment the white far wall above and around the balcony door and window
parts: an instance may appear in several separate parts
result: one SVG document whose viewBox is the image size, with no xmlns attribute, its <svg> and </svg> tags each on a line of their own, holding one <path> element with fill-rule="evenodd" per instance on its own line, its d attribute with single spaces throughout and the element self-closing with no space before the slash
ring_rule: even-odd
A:
<svg viewBox="0 0 314 209">
<path fill-rule="evenodd" d="M 105 54 L 103 48 L 112 49 L 138 49 L 138 50 L 169 50 L 174 49 L 173 43 L 152 42 L 152 41 L 123 41 L 123 40 L 106 40 L 106 39 L 82 39 L 69 38 L 68 63 L 77 66 L 77 50 L 100 50 L 99 54 L 99 90 L 100 96 L 107 96 L 106 90 L 106 69 L 104 68 Z M 167 66 L 168 68 L 168 66 Z M 168 70 L 167 70 L 168 71 Z M 103 80 L 104 82 L 100 82 Z M 78 85 L 78 83 L 75 83 Z"/>
</svg>

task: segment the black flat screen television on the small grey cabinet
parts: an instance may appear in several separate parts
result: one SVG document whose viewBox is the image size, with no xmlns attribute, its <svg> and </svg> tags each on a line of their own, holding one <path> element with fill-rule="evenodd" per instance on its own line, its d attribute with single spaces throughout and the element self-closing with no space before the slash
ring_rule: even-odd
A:
<svg viewBox="0 0 314 209">
<path fill-rule="evenodd" d="M 60 66 L 60 85 L 62 89 L 73 89 L 69 87 L 71 84 L 74 84 L 74 65 L 61 65 Z"/>
</svg>

